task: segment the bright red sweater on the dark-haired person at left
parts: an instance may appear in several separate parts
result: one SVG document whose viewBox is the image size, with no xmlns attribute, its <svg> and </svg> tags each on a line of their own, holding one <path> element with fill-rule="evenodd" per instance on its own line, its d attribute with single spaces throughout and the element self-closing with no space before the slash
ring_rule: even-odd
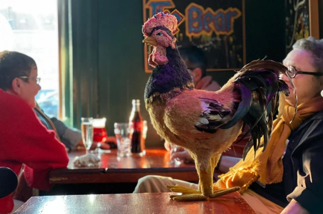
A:
<svg viewBox="0 0 323 214">
<path fill-rule="evenodd" d="M 19 175 L 25 164 L 25 179 L 31 187 L 49 190 L 48 173 L 66 168 L 69 158 L 65 146 L 47 130 L 34 111 L 21 98 L 0 89 L 0 167 Z M 1 175 L 0 175 L 1 176 Z M 12 196 L 0 199 L 0 213 L 14 206 Z"/>
</svg>

